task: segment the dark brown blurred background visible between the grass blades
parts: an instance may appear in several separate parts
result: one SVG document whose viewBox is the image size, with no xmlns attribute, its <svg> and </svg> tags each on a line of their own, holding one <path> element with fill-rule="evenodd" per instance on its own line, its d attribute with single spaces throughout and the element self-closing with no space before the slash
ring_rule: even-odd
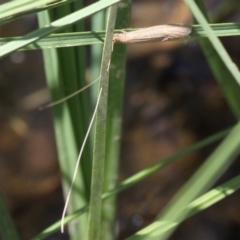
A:
<svg viewBox="0 0 240 240">
<path fill-rule="evenodd" d="M 225 11 L 221 6 L 226 2 L 236 1 L 205 1 L 215 21 L 239 22 L 240 4 Z M 133 2 L 132 28 L 167 23 L 193 23 L 183 0 Z M 0 37 L 36 28 L 36 16 L 31 15 L 0 26 Z M 239 67 L 240 37 L 222 42 Z M 126 67 L 120 180 L 235 123 L 196 39 L 131 45 Z M 0 61 L 0 189 L 24 240 L 58 220 L 63 209 L 51 109 L 37 108 L 49 99 L 40 51 L 17 52 Z M 119 239 L 154 220 L 215 147 L 121 193 Z M 238 162 L 219 183 L 239 173 Z M 192 217 L 171 239 L 240 239 L 239 201 L 235 193 Z M 48 239 L 68 237 L 55 234 Z"/>
</svg>

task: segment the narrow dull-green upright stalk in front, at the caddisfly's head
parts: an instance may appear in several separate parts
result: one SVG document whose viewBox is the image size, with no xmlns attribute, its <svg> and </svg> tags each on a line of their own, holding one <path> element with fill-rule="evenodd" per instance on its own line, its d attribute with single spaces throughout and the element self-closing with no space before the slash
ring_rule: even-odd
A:
<svg viewBox="0 0 240 240">
<path fill-rule="evenodd" d="M 100 72 L 99 90 L 102 95 L 96 115 L 95 139 L 93 150 L 92 186 L 88 219 L 88 240 L 99 239 L 101 226 L 101 195 L 104 181 L 106 119 L 108 103 L 109 64 L 112 53 L 112 39 L 117 14 L 117 5 L 110 7 L 106 38 Z"/>
</svg>

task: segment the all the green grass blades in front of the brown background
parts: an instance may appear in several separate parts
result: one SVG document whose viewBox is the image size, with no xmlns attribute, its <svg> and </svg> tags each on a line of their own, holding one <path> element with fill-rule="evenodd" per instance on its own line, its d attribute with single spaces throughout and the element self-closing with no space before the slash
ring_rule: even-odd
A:
<svg viewBox="0 0 240 240">
<path fill-rule="evenodd" d="M 121 8 L 118 8 L 117 3 L 119 2 L 120 0 L 102 0 L 88 7 L 84 7 L 80 0 L 18 0 L 2 4 L 1 24 L 30 13 L 38 13 L 39 29 L 25 36 L 0 39 L 0 57 L 3 58 L 14 51 L 42 49 L 52 101 L 56 101 L 87 84 L 85 81 L 86 45 L 95 45 L 95 53 L 98 55 L 102 51 L 101 62 L 95 61 L 92 65 L 92 71 L 95 74 L 100 71 L 99 85 L 92 94 L 83 92 L 53 108 L 65 197 L 72 189 L 68 205 L 69 214 L 64 220 L 66 225 L 71 226 L 69 228 L 71 239 L 114 239 L 117 193 L 178 161 L 183 156 L 223 139 L 193 177 L 169 202 L 156 221 L 129 238 L 131 240 L 164 240 L 168 239 L 174 229 L 185 219 L 227 198 L 240 188 L 240 176 L 237 176 L 223 185 L 209 190 L 239 155 L 240 123 L 237 122 L 232 129 L 217 133 L 118 184 L 116 179 L 118 176 L 126 46 L 116 45 L 112 52 L 112 38 L 114 31 L 129 27 L 131 12 L 129 1 L 121 1 L 124 2 L 121 5 L 124 7 Z M 200 41 L 209 66 L 238 121 L 240 118 L 240 73 L 218 37 L 240 35 L 240 24 L 209 24 L 200 0 L 185 0 L 185 3 L 197 22 L 193 26 L 191 37 Z M 19 4 L 24 7 L 20 8 Z M 95 13 L 103 14 L 101 25 L 104 28 L 102 31 L 86 32 L 81 20 Z M 98 21 L 93 21 L 93 23 L 99 24 Z M 97 27 L 93 26 L 93 29 L 97 29 Z M 109 68 L 110 61 L 114 65 L 112 69 Z M 95 126 L 86 142 L 80 168 L 72 187 L 79 150 L 84 141 L 99 90 L 101 90 L 101 96 Z M 201 177 L 203 175 L 204 178 Z M 2 209 L 0 229 L 3 239 L 19 239 L 2 200 L 0 209 Z M 78 221 L 71 225 L 74 219 Z M 5 231 L 6 224 L 7 231 Z M 60 226 L 59 219 L 59 222 L 45 229 L 33 239 L 45 239 L 53 232 L 58 231 Z"/>
</svg>

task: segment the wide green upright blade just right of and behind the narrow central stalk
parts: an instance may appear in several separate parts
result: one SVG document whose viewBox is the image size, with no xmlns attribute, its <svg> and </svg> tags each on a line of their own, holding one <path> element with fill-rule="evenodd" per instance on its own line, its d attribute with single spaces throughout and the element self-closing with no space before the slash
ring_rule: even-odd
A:
<svg viewBox="0 0 240 240">
<path fill-rule="evenodd" d="M 127 28 L 129 26 L 131 17 L 131 2 L 124 0 L 121 2 L 121 4 L 122 7 L 118 8 L 115 24 L 115 28 L 118 29 Z M 109 190 L 114 189 L 118 182 L 126 53 L 126 45 L 114 45 L 108 91 L 106 161 L 103 192 L 108 192 Z M 101 239 L 103 240 L 112 240 L 116 237 L 116 205 L 116 197 L 111 197 L 103 202 L 101 226 Z"/>
</svg>

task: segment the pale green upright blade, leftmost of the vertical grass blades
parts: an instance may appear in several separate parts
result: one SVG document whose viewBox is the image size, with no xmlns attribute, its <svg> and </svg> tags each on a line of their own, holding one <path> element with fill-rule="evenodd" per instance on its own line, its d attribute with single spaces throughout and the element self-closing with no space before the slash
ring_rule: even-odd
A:
<svg viewBox="0 0 240 240">
<path fill-rule="evenodd" d="M 50 18 L 47 12 L 39 14 L 40 25 L 45 25 L 48 21 L 50 21 Z M 52 99 L 53 101 L 55 101 L 56 99 L 60 99 L 65 96 L 66 84 L 63 78 L 65 77 L 67 78 L 67 80 L 69 80 L 69 77 L 66 71 L 64 71 L 63 62 L 61 62 L 61 58 L 59 58 L 56 50 L 44 50 L 43 56 L 48 85 L 51 91 Z M 72 174 L 74 172 L 75 162 L 78 156 L 79 149 L 76 142 L 75 129 L 73 127 L 70 107 L 71 106 L 69 105 L 69 102 L 64 102 L 63 104 L 58 105 L 53 109 L 55 116 L 54 127 L 56 134 L 56 142 L 60 160 L 60 168 L 63 176 L 62 185 L 65 195 L 67 195 L 70 188 Z M 83 180 L 81 176 L 78 175 L 73 189 L 72 198 L 70 199 L 70 212 L 86 204 L 86 197 L 84 192 L 85 190 Z M 75 226 L 77 226 L 77 229 L 74 228 L 72 231 L 70 231 L 70 235 L 72 235 L 72 238 L 73 236 L 83 238 L 85 237 L 85 222 L 86 219 L 84 219 L 84 216 L 79 219 L 79 224 L 75 224 Z M 74 233 L 71 234 L 71 232 Z"/>
</svg>

